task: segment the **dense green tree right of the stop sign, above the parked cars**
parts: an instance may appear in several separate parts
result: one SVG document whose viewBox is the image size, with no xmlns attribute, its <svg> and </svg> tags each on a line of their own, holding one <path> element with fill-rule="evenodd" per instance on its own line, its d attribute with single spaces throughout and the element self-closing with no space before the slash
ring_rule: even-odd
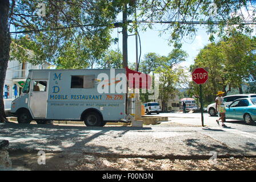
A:
<svg viewBox="0 0 256 182">
<path fill-rule="evenodd" d="M 256 61 L 254 50 L 255 38 L 237 31 L 201 49 L 190 71 L 196 67 L 208 69 L 209 80 L 203 86 L 207 103 L 214 101 L 218 90 L 227 94 L 231 88 L 241 88 L 243 82 L 252 80 Z M 196 85 L 192 83 L 191 87 Z M 197 94 L 197 89 L 191 90 Z"/>
</svg>

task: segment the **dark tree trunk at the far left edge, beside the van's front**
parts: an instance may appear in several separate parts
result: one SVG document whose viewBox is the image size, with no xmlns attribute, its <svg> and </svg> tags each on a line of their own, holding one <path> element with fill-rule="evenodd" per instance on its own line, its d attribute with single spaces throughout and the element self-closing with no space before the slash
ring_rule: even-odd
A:
<svg viewBox="0 0 256 182">
<path fill-rule="evenodd" d="M 5 106 L 3 105 L 3 86 L 5 84 L 6 69 L 10 57 L 9 8 L 9 0 L 0 1 L 0 122 L 7 121 L 5 117 Z"/>
</svg>

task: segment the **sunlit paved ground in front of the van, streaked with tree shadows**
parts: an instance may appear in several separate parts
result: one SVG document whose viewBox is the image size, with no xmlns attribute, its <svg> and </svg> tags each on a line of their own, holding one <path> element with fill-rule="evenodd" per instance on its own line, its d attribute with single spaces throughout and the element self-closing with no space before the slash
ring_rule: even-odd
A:
<svg viewBox="0 0 256 182">
<path fill-rule="evenodd" d="M 84 152 L 100 155 L 154 156 L 161 158 L 210 158 L 256 155 L 256 126 L 228 121 L 228 128 L 205 114 L 169 113 L 171 121 L 144 127 L 85 127 L 58 125 L 0 125 L 0 139 L 10 141 L 10 150 Z M 191 157 L 192 156 L 192 157 Z M 165 158 L 163 157 L 163 158 Z"/>
</svg>

